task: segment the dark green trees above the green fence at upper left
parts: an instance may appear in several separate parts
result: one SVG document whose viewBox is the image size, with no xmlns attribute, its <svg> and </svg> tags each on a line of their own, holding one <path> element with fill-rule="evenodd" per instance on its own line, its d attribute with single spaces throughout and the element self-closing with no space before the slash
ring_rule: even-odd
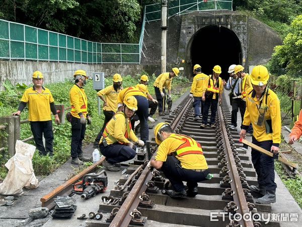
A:
<svg viewBox="0 0 302 227">
<path fill-rule="evenodd" d="M 139 37 L 136 0 L 2 0 L 0 5 L 0 19 L 90 41 L 137 42 Z"/>
</svg>

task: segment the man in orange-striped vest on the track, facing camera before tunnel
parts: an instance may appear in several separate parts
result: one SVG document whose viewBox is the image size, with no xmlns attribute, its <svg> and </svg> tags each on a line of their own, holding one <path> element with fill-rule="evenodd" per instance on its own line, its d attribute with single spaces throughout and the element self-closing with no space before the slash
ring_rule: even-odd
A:
<svg viewBox="0 0 302 227">
<path fill-rule="evenodd" d="M 218 106 L 218 101 L 221 103 L 222 92 L 223 92 L 223 83 L 221 77 L 221 67 L 214 66 L 213 74 L 209 76 L 208 88 L 205 92 L 205 101 L 203 105 L 203 115 L 202 115 L 202 124 L 200 128 L 203 129 L 207 126 L 207 119 L 209 108 L 211 106 L 211 118 L 210 118 L 210 127 L 215 128 L 215 117 Z"/>
</svg>

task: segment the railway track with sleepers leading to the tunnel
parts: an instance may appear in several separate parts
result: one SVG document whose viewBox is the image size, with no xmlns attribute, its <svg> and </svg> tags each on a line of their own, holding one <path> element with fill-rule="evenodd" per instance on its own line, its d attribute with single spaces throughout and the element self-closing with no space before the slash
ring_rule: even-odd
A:
<svg viewBox="0 0 302 227">
<path fill-rule="evenodd" d="M 110 212 L 100 221 L 90 220 L 87 226 L 261 226 L 263 217 L 271 212 L 270 205 L 254 204 L 249 185 L 257 184 L 250 154 L 242 149 L 237 131 L 229 129 L 230 106 L 223 97 L 218 107 L 216 128 L 200 129 L 200 122 L 193 121 L 192 99 L 186 97 L 176 108 L 169 122 L 176 133 L 186 134 L 198 141 L 203 149 L 210 173 L 209 181 L 198 183 L 195 198 L 173 199 L 161 192 L 167 182 L 158 171 L 150 172 L 145 164 L 139 169 L 130 166 L 127 176 L 121 178 L 110 196 L 113 204 L 102 202 L 99 212 Z M 150 142 L 151 152 L 157 146 Z M 153 155 L 155 156 L 155 155 Z M 134 173 L 136 171 L 136 173 Z M 133 174 L 134 173 L 134 174 Z M 126 183 L 127 186 L 124 184 Z M 123 190 L 121 188 L 123 187 Z M 279 226 L 269 222 L 265 226 Z"/>
</svg>

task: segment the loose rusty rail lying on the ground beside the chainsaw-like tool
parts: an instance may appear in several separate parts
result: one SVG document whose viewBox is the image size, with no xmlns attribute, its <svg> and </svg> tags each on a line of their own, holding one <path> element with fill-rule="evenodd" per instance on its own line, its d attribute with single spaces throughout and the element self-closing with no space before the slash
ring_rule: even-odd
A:
<svg viewBox="0 0 302 227">
<path fill-rule="evenodd" d="M 47 207 L 48 209 L 51 209 L 53 204 L 53 197 L 55 196 L 61 196 L 71 193 L 72 184 L 76 183 L 80 179 L 82 179 L 86 174 L 93 173 L 96 171 L 97 167 L 102 164 L 102 162 L 105 160 L 105 157 L 100 159 L 98 162 L 94 163 L 93 165 L 89 166 L 88 168 L 84 169 L 81 173 L 75 175 L 70 180 L 66 181 L 64 184 L 60 185 L 53 191 L 49 192 L 47 195 L 43 196 L 40 201 L 42 202 L 42 207 Z"/>
</svg>

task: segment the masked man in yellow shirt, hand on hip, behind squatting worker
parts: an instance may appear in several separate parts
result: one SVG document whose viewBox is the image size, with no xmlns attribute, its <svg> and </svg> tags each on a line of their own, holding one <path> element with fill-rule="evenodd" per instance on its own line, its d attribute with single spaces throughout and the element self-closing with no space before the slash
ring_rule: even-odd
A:
<svg viewBox="0 0 302 227">
<path fill-rule="evenodd" d="M 104 132 L 104 129 L 106 127 L 106 124 L 109 122 L 109 120 L 113 117 L 115 112 L 117 111 L 117 96 L 118 93 L 121 91 L 121 86 L 122 86 L 122 77 L 119 74 L 114 74 L 113 75 L 113 84 L 105 87 L 104 89 L 100 90 L 97 95 L 102 99 L 104 102 L 103 104 L 103 113 L 105 116 L 104 124 L 97 135 L 95 142 L 94 142 L 94 147 L 98 148 L 99 147 L 99 142 L 102 137 L 102 134 Z M 106 96 L 106 99 L 103 96 Z"/>
</svg>

